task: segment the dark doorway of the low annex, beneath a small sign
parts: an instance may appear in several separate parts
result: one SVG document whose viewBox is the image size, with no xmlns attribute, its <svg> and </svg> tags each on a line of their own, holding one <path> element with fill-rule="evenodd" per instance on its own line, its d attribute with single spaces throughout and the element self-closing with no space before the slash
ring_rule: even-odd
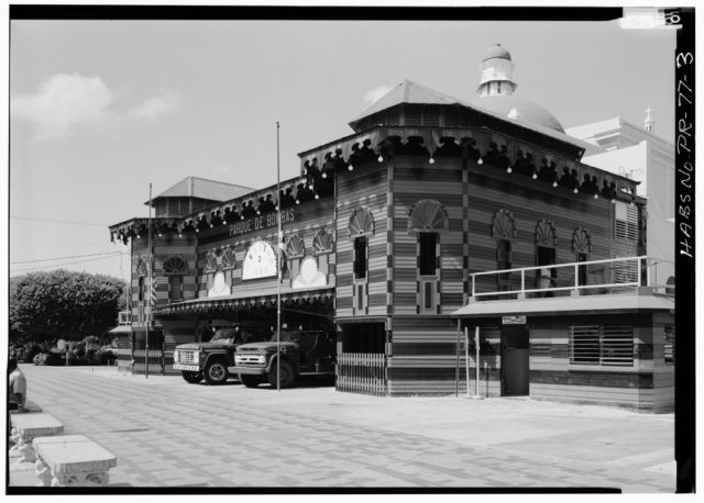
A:
<svg viewBox="0 0 704 503">
<path fill-rule="evenodd" d="M 529 358 L 526 325 L 502 325 L 502 395 L 528 394 Z"/>
</svg>

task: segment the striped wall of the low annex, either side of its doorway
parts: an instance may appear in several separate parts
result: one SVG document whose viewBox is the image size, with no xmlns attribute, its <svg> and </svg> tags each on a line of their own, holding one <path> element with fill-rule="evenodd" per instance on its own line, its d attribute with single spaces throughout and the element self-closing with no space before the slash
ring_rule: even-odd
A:
<svg viewBox="0 0 704 503">
<path fill-rule="evenodd" d="M 571 403 L 617 405 L 651 412 L 670 412 L 674 406 L 674 366 L 664 365 L 664 324 L 671 323 L 667 314 L 614 314 L 600 316 L 528 317 L 529 336 L 529 395 L 538 400 Z M 487 351 L 486 340 L 496 344 L 496 358 L 501 360 L 501 327 L 492 321 L 479 323 L 482 334 L 482 355 Z M 490 325 L 487 325 L 487 323 Z M 632 366 L 575 366 L 570 364 L 570 325 L 634 326 Z M 470 337 L 473 327 L 470 328 Z M 486 339 L 486 340 L 485 340 Z M 490 343 L 491 344 L 491 343 Z M 473 345 L 470 348 L 470 390 L 474 390 Z M 484 372 L 486 364 L 480 362 Z M 501 368 L 498 362 L 496 368 Z M 487 387 L 486 377 L 480 377 L 480 389 Z M 497 375 L 501 381 L 501 372 Z M 491 381 L 490 381 L 491 383 Z M 498 382 L 497 382 L 498 384 Z M 501 394 L 501 385 L 495 388 Z M 490 392 L 491 395 L 491 392 Z"/>
</svg>

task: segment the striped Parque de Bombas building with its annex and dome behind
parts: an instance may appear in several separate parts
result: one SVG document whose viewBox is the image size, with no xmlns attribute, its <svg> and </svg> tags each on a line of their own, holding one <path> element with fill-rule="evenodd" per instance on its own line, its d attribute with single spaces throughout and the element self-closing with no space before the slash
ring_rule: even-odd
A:
<svg viewBox="0 0 704 503">
<path fill-rule="evenodd" d="M 404 80 L 278 193 L 169 189 L 110 226 L 132 252 L 133 371 L 173 371 L 213 320 L 274 325 L 280 287 L 285 323 L 337 333 L 339 391 L 466 393 L 479 327 L 484 395 L 671 410 L 674 303 L 638 182 L 583 164 L 513 68 L 491 47 L 470 102 Z"/>
</svg>

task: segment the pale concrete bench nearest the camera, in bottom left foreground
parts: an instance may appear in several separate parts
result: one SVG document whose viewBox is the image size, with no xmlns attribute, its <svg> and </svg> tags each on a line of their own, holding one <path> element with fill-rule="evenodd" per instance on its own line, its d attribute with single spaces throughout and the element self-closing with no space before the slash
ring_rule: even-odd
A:
<svg viewBox="0 0 704 503">
<path fill-rule="evenodd" d="M 106 485 L 108 470 L 118 465 L 112 452 L 85 435 L 38 437 L 32 445 L 42 485 Z"/>
</svg>

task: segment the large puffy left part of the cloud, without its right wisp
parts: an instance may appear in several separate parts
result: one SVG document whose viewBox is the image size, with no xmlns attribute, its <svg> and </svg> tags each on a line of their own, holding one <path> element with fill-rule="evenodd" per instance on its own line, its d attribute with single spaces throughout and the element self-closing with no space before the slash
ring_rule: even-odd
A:
<svg viewBox="0 0 704 503">
<path fill-rule="evenodd" d="M 100 77 L 58 74 L 37 91 L 12 97 L 10 112 L 29 121 L 37 139 L 67 136 L 76 131 L 100 131 L 114 120 L 114 93 Z"/>
</svg>

